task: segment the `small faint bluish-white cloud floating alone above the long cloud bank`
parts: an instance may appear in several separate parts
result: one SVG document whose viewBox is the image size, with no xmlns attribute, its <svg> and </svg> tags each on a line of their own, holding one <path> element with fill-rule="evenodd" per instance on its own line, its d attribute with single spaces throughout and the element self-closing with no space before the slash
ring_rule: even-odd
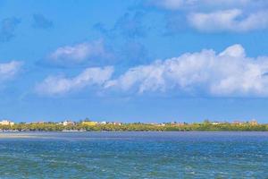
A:
<svg viewBox="0 0 268 179">
<path fill-rule="evenodd" d="M 81 64 L 94 58 L 105 58 L 109 54 L 105 50 L 103 40 L 85 42 L 74 46 L 57 48 L 47 59 L 54 64 Z"/>
</svg>

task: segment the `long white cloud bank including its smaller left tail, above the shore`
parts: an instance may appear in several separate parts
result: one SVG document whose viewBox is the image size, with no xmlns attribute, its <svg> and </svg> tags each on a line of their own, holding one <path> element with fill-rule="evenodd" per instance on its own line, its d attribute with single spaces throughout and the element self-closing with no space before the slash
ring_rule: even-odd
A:
<svg viewBox="0 0 268 179">
<path fill-rule="evenodd" d="M 120 75 L 113 67 L 87 68 L 78 76 L 49 76 L 37 86 L 39 94 L 61 95 L 96 86 L 120 93 L 170 92 L 212 97 L 268 97 L 268 56 L 248 57 L 239 45 L 221 53 L 203 49 L 178 57 L 138 65 Z"/>
</svg>

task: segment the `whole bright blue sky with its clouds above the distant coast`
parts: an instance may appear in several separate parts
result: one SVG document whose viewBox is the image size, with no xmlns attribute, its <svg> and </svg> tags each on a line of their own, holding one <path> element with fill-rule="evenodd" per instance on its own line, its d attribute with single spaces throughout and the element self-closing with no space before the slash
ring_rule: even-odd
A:
<svg viewBox="0 0 268 179">
<path fill-rule="evenodd" d="M 268 123 L 266 0 L 0 0 L 0 119 Z"/>
</svg>

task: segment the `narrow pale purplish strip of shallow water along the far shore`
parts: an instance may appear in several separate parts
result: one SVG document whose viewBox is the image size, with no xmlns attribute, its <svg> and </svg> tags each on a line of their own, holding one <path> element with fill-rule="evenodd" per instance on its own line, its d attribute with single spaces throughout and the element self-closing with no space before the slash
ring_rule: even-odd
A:
<svg viewBox="0 0 268 179">
<path fill-rule="evenodd" d="M 161 134 L 163 133 L 163 135 Z M 92 134 L 92 135 L 91 135 Z M 126 139 L 131 140 L 130 136 L 136 136 L 140 139 L 147 138 L 148 136 L 158 136 L 160 138 L 166 136 L 180 137 L 184 135 L 192 136 L 193 138 L 198 138 L 200 135 L 205 136 L 267 136 L 268 132 L 215 132 L 215 131 L 188 131 L 188 132 L 154 132 L 154 131 L 136 131 L 136 132 L 126 132 L 126 131 L 113 131 L 113 132 L 0 132 L 0 140 L 95 140 L 95 139 Z M 73 136 L 76 136 L 73 138 Z M 164 139 L 164 138 L 163 138 Z"/>
</svg>

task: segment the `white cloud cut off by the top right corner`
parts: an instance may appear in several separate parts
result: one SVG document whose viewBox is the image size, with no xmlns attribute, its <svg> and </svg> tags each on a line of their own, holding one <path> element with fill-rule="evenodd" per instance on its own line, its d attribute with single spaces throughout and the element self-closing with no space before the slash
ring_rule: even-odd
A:
<svg viewBox="0 0 268 179">
<path fill-rule="evenodd" d="M 183 18 L 185 27 L 189 25 L 205 32 L 247 32 L 268 29 L 266 0 L 148 0 L 148 2 L 174 12 L 169 13 L 167 18 L 167 22 L 172 20 L 173 24 L 167 27 L 176 27 L 174 17 L 179 16 L 178 26 L 181 26 Z"/>
</svg>

